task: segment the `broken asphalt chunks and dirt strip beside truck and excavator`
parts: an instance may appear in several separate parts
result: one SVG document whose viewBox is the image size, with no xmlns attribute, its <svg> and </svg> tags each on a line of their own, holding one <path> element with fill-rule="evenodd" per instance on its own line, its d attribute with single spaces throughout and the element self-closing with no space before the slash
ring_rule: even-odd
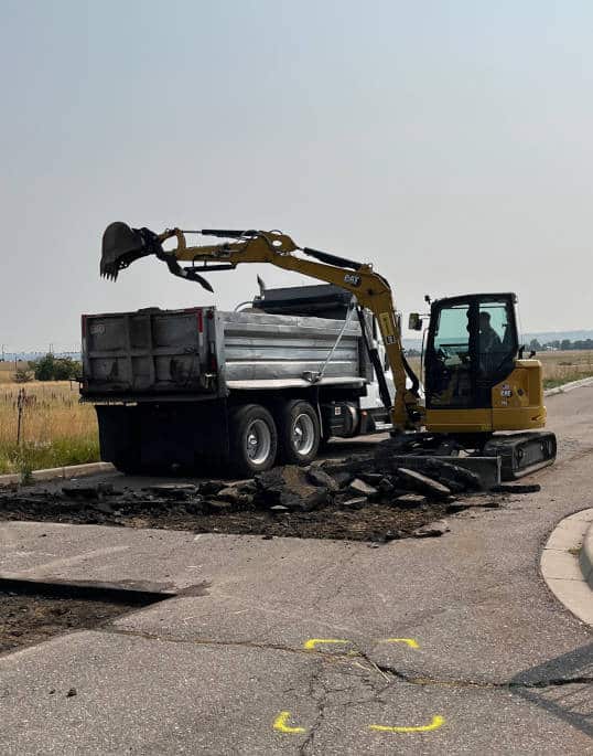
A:
<svg viewBox="0 0 593 756">
<path fill-rule="evenodd" d="M 112 482 L 79 480 L 61 490 L 21 489 L 0 494 L 0 518 L 389 541 L 442 535 L 449 530 L 443 515 L 500 507 L 505 487 L 483 491 L 481 479 L 454 457 L 402 457 L 397 450 L 385 441 L 369 454 L 277 467 L 237 482 L 171 481 L 121 490 Z M 525 489 L 539 487 L 511 487 Z"/>
</svg>

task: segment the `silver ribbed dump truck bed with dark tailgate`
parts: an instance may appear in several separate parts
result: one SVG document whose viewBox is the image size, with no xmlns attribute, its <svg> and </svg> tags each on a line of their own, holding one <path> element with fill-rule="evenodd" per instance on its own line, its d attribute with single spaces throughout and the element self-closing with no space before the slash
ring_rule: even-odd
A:
<svg viewBox="0 0 593 756">
<path fill-rule="evenodd" d="M 180 401 L 310 386 L 343 328 L 343 320 L 215 307 L 83 316 L 82 395 Z M 320 384 L 369 380 L 359 324 L 348 322 Z"/>
</svg>

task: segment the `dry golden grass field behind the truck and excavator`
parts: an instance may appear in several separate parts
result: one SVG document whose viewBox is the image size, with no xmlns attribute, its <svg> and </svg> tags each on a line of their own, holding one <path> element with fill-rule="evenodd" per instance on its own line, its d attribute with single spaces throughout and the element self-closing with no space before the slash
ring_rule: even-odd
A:
<svg viewBox="0 0 593 756">
<path fill-rule="evenodd" d="M 546 387 L 593 375 L 593 352 L 541 352 Z M 420 370 L 420 359 L 410 360 Z M 24 364 L 23 364 L 24 366 Z M 13 382 L 14 364 L 0 363 L 0 473 L 99 459 L 93 406 L 79 404 L 76 383 Z M 21 444 L 17 443 L 18 395 L 24 390 Z"/>
</svg>

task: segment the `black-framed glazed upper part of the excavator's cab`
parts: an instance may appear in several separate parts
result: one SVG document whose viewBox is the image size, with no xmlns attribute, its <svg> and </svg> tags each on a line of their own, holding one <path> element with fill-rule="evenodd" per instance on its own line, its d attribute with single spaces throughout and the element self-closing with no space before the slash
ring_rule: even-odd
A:
<svg viewBox="0 0 593 756">
<path fill-rule="evenodd" d="M 425 358 L 427 406 L 492 406 L 492 387 L 514 368 L 515 296 L 472 295 L 432 305 Z"/>
</svg>

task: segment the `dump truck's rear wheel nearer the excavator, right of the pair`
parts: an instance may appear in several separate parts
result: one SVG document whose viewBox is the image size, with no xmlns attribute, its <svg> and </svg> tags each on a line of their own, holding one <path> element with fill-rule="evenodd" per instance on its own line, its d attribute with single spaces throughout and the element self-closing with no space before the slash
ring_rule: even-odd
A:
<svg viewBox="0 0 593 756">
<path fill-rule="evenodd" d="M 302 400 L 283 405 L 279 418 L 279 457 L 284 465 L 310 465 L 321 443 L 320 418 Z"/>
</svg>

